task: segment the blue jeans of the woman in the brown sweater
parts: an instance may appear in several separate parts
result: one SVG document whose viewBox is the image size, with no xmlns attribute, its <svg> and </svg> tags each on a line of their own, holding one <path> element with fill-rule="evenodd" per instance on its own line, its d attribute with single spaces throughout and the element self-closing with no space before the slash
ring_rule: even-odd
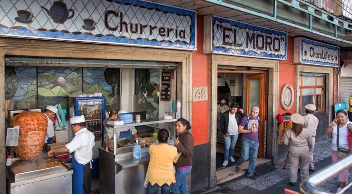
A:
<svg viewBox="0 0 352 194">
<path fill-rule="evenodd" d="M 176 168 L 176 183 L 171 187 L 172 194 L 187 194 L 187 176 L 191 172 L 192 167 L 178 169 Z"/>
</svg>

